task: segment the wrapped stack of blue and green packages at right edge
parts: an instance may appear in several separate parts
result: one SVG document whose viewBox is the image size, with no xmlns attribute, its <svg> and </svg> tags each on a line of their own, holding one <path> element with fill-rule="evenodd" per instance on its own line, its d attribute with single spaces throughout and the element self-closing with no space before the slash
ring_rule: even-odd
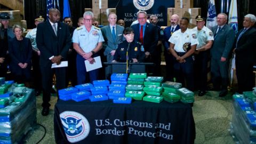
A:
<svg viewBox="0 0 256 144">
<path fill-rule="evenodd" d="M 230 133 L 236 143 L 256 143 L 256 91 L 233 95 Z"/>
</svg>

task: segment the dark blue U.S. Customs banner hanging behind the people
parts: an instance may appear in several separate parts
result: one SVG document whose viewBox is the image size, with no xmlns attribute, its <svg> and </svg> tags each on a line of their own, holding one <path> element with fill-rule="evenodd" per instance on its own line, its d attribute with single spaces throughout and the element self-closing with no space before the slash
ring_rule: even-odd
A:
<svg viewBox="0 0 256 144">
<path fill-rule="evenodd" d="M 174 7 L 174 0 L 108 0 L 108 7 L 116 8 L 117 19 L 123 19 L 126 26 L 137 20 L 139 9 L 147 12 L 148 19 L 156 14 L 158 26 L 167 26 L 167 8 Z"/>
</svg>

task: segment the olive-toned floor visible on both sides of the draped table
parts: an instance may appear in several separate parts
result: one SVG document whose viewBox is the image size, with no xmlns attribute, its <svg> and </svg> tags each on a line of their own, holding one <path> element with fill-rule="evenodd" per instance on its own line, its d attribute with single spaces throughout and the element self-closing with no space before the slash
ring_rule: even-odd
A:
<svg viewBox="0 0 256 144">
<path fill-rule="evenodd" d="M 196 124 L 196 144 L 235 143 L 229 134 L 232 99 L 231 93 L 219 98 L 215 91 L 207 92 L 203 97 L 195 96 L 193 115 Z M 37 123 L 46 127 L 46 135 L 40 143 L 55 143 L 53 130 L 53 113 L 56 97 L 51 98 L 50 114 L 41 115 L 42 96 L 37 97 Z M 43 127 L 37 125 L 25 138 L 25 143 L 36 143 L 44 135 Z"/>
</svg>

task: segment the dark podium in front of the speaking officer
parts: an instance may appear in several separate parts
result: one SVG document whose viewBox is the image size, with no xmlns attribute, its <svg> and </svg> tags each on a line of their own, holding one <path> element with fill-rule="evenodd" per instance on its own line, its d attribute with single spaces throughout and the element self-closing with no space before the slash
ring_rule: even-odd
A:
<svg viewBox="0 0 256 144">
<path fill-rule="evenodd" d="M 126 73 L 126 62 L 103 62 L 104 65 L 112 66 L 112 73 Z M 146 73 L 146 66 L 153 66 L 149 62 L 129 62 L 128 73 Z"/>
</svg>

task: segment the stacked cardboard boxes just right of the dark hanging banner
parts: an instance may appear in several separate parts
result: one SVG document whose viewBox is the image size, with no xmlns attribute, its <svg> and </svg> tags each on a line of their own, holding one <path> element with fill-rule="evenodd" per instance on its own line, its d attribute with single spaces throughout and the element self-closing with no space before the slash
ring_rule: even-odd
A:
<svg viewBox="0 0 256 144">
<path fill-rule="evenodd" d="M 175 7 L 167 8 L 167 26 L 171 25 L 171 16 L 178 14 L 180 18 L 189 19 L 188 28 L 196 26 L 196 16 L 201 14 L 201 8 L 193 8 L 194 0 L 175 0 Z"/>
</svg>

